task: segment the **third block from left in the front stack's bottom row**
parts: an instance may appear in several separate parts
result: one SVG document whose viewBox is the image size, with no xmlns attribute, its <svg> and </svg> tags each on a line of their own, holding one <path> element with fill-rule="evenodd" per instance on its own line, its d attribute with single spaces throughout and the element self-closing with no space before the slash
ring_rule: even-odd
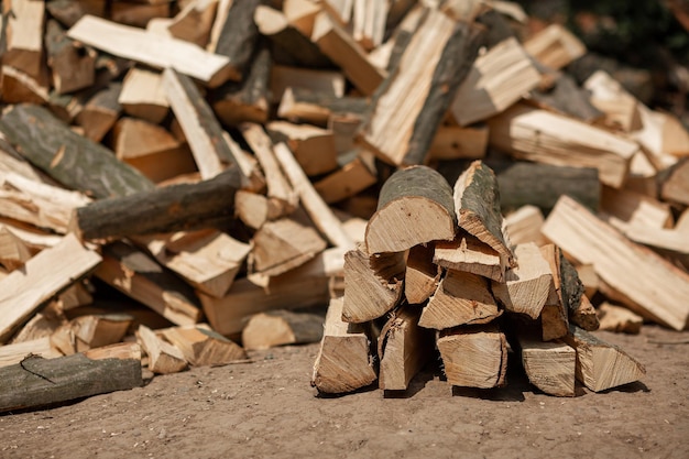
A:
<svg viewBox="0 0 689 459">
<path fill-rule="evenodd" d="M 450 384 L 480 389 L 505 385 L 507 340 L 497 327 L 444 330 L 437 346 Z"/>
</svg>

